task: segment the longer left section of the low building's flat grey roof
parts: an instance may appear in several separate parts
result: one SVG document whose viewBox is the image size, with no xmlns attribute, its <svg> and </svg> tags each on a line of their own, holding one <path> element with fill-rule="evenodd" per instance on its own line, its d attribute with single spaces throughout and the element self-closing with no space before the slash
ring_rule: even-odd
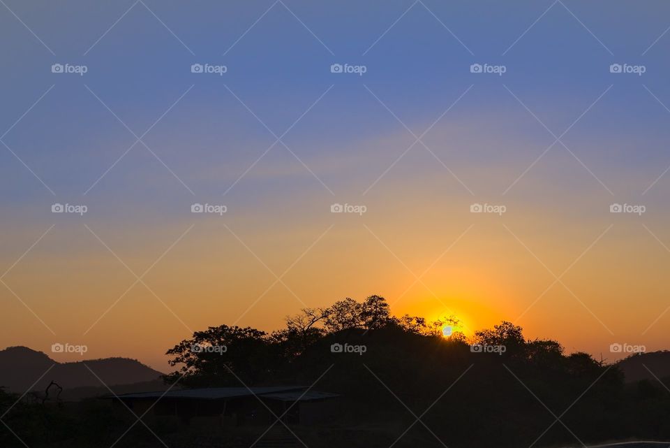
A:
<svg viewBox="0 0 670 448">
<path fill-rule="evenodd" d="M 200 400 L 221 400 L 224 398 L 235 398 L 244 396 L 267 396 L 275 393 L 288 393 L 295 391 L 297 396 L 300 395 L 305 386 L 272 386 L 272 387 L 208 387 L 204 389 L 183 389 L 179 391 L 156 391 L 156 392 L 140 392 L 140 393 L 121 393 L 117 398 L 184 398 L 184 399 L 200 399 Z M 310 392 L 311 393 L 311 392 Z M 114 398 L 112 396 L 108 398 Z"/>
</svg>

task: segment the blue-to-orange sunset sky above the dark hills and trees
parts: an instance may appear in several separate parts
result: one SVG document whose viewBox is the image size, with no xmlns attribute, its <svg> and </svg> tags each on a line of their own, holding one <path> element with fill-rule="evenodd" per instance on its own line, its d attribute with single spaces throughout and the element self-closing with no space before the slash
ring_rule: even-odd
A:
<svg viewBox="0 0 670 448">
<path fill-rule="evenodd" d="M 378 294 L 669 348 L 667 2 L 0 3 L 0 347 Z"/>
</svg>

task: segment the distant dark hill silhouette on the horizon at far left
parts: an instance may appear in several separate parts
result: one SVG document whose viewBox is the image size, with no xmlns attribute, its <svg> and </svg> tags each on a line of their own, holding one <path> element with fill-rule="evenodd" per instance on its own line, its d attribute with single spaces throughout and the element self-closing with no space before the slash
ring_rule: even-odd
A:
<svg viewBox="0 0 670 448">
<path fill-rule="evenodd" d="M 68 391 L 75 388 L 102 388 L 100 390 L 103 393 L 108 393 L 101 380 L 108 386 L 150 382 L 156 390 L 153 383 L 160 384 L 157 380 L 163 375 L 135 359 L 106 358 L 58 363 L 47 354 L 28 347 L 8 347 L 0 350 L 0 366 L 0 386 L 8 391 L 43 391 L 50 382 L 55 381 L 63 387 L 64 396 L 70 395 Z M 51 370 L 44 375 L 50 367 Z M 42 378 L 38 381 L 40 377 Z"/>
</svg>

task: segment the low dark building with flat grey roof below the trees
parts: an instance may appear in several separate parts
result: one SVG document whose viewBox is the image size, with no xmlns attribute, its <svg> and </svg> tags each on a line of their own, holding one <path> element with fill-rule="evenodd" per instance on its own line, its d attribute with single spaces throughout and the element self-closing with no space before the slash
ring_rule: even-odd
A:
<svg viewBox="0 0 670 448">
<path fill-rule="evenodd" d="M 336 397 L 305 386 L 274 386 L 124 393 L 105 398 L 110 398 L 119 412 L 128 414 L 130 408 L 137 417 L 144 414 L 143 419 L 223 428 L 267 425 L 278 417 L 285 424 L 329 421 L 336 417 Z"/>
</svg>

